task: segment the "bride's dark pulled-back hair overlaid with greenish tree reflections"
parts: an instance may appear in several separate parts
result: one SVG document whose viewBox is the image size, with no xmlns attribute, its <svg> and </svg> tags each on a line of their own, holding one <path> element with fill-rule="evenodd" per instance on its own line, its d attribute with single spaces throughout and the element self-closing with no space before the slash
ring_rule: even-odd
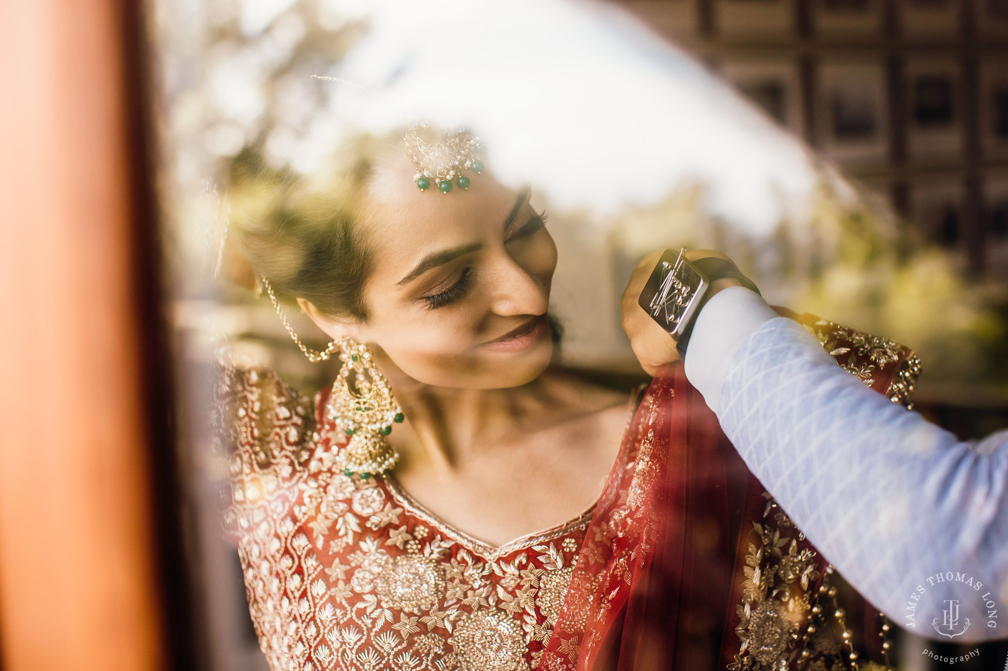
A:
<svg viewBox="0 0 1008 671">
<path fill-rule="evenodd" d="M 357 220 L 376 158 L 389 142 L 357 138 L 308 175 L 270 168 L 253 150 L 235 158 L 231 231 L 278 298 L 304 298 L 327 314 L 367 318 L 363 288 L 371 252 Z"/>
</svg>

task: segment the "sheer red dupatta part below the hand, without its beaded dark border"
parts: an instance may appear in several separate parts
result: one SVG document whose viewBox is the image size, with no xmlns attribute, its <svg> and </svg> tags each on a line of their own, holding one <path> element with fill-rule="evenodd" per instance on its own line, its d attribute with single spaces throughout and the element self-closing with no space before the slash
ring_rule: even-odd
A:
<svg viewBox="0 0 1008 671">
<path fill-rule="evenodd" d="M 716 665 L 719 650 L 692 639 L 722 632 L 690 631 L 687 620 L 721 623 L 730 598 L 731 445 L 703 400 L 690 402 L 695 394 L 680 365 L 651 383 L 596 507 L 542 671 Z"/>
</svg>

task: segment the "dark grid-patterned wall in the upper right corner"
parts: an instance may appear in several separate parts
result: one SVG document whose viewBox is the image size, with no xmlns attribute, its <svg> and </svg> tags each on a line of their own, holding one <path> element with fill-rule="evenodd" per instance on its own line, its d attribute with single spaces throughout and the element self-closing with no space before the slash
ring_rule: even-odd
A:
<svg viewBox="0 0 1008 671">
<path fill-rule="evenodd" d="M 1008 277 L 1008 0 L 623 0 L 887 195 L 965 267 Z"/>
</svg>

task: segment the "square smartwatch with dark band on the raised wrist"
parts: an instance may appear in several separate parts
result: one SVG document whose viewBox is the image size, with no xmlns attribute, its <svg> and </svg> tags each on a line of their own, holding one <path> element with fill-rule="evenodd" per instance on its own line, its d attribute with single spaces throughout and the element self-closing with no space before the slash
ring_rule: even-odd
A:
<svg viewBox="0 0 1008 671">
<path fill-rule="evenodd" d="M 713 256 L 690 261 L 685 253 L 684 247 L 678 252 L 666 249 L 637 301 L 675 339 L 675 349 L 683 359 L 697 315 L 710 298 L 711 284 L 715 280 L 732 277 L 759 293 L 753 281 L 731 261 Z"/>
</svg>

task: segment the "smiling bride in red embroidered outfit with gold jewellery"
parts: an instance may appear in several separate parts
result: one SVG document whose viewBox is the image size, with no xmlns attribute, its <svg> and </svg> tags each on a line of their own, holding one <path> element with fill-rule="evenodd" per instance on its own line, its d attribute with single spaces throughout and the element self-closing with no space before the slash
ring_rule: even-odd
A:
<svg viewBox="0 0 1008 671">
<path fill-rule="evenodd" d="M 271 668 L 883 659 L 681 366 L 628 395 L 551 365 L 546 214 L 465 132 L 424 131 L 357 138 L 310 175 L 234 166 L 238 245 L 301 350 L 342 364 L 313 400 L 268 371 L 221 378 L 226 528 Z M 912 385 L 903 348 L 800 318 L 866 384 Z"/>
</svg>

